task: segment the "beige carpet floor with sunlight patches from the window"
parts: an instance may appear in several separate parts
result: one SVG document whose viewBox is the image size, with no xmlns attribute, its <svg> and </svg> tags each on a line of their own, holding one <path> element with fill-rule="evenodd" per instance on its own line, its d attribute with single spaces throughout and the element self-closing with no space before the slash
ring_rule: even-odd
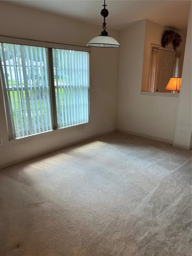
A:
<svg viewBox="0 0 192 256">
<path fill-rule="evenodd" d="M 191 151 L 113 132 L 0 170 L 1 256 L 191 255 Z"/>
</svg>

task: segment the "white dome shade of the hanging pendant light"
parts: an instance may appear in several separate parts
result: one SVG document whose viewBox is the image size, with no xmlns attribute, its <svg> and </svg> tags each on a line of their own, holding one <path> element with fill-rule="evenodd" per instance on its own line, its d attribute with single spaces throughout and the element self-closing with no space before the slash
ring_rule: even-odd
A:
<svg viewBox="0 0 192 256">
<path fill-rule="evenodd" d="M 110 36 L 97 36 L 91 39 L 91 41 L 88 42 L 88 46 L 94 46 L 94 47 L 107 47 L 107 48 L 113 48 L 113 47 L 120 47 L 119 43 Z"/>
</svg>

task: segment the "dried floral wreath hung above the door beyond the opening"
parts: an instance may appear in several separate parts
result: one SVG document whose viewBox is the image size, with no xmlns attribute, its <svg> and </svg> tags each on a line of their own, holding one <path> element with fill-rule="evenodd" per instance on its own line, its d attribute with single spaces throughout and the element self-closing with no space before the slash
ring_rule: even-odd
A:
<svg viewBox="0 0 192 256">
<path fill-rule="evenodd" d="M 161 39 L 161 44 L 165 48 L 168 44 L 173 44 L 173 49 L 176 51 L 182 42 L 182 37 L 174 30 L 165 30 Z"/>
</svg>

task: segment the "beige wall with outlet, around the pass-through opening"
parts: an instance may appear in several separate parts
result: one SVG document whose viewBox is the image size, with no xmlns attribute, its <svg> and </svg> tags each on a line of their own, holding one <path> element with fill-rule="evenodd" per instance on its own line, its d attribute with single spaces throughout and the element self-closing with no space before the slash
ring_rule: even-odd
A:
<svg viewBox="0 0 192 256">
<path fill-rule="evenodd" d="M 178 98 L 140 94 L 148 83 L 151 44 L 161 45 L 165 29 L 141 20 L 120 32 L 117 128 L 173 142 Z"/>
</svg>

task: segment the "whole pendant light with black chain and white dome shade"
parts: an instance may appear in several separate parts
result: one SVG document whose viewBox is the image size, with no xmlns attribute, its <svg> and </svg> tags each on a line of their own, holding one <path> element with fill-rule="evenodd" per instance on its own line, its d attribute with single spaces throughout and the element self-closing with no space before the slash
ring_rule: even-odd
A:
<svg viewBox="0 0 192 256">
<path fill-rule="evenodd" d="M 101 32 L 101 35 L 91 39 L 91 41 L 88 42 L 88 46 L 93 46 L 93 47 L 107 47 L 107 48 L 113 48 L 113 47 L 120 47 L 119 43 L 112 37 L 110 37 L 106 31 L 106 23 L 105 23 L 105 18 L 108 16 L 109 12 L 105 8 L 107 6 L 105 4 L 104 0 L 104 9 L 101 10 L 101 17 L 104 18 L 104 23 L 103 23 L 103 31 Z"/>
</svg>

